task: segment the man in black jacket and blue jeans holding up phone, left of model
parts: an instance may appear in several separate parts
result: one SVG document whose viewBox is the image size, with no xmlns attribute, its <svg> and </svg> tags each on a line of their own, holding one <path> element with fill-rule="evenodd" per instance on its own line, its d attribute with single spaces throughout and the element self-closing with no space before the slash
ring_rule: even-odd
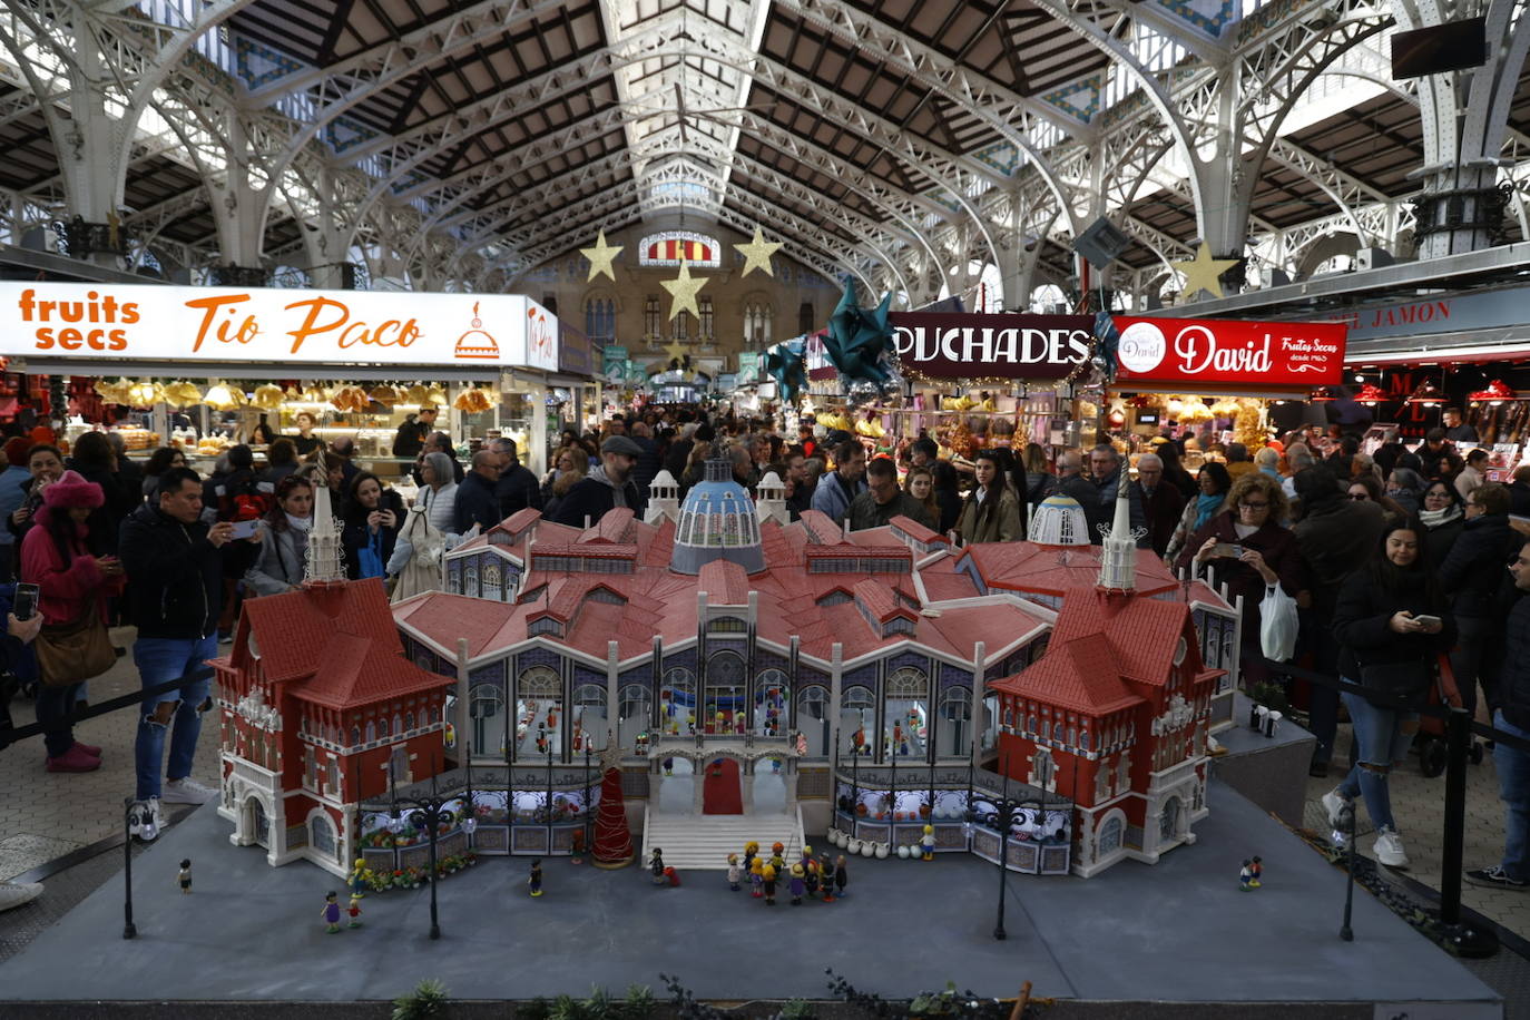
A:
<svg viewBox="0 0 1530 1020">
<path fill-rule="evenodd" d="M 138 641 L 133 662 L 145 688 L 158 687 L 207 668 L 217 655 L 219 598 L 223 593 L 220 549 L 233 538 L 234 525 L 200 521 L 202 480 L 190 468 L 170 468 L 159 479 L 156 503 L 144 503 L 122 521 L 118 552 L 127 572 L 124 599 Z M 138 792 L 135 818 L 153 815 L 156 827 L 135 823 L 135 833 L 153 838 L 161 800 L 170 804 L 203 804 L 217 797 L 191 778 L 202 710 L 211 702 L 211 677 L 179 691 L 144 697 L 135 748 Z M 165 729 L 174 719 L 170 762 L 165 763 Z M 161 784 L 161 769 L 168 781 Z"/>
</svg>

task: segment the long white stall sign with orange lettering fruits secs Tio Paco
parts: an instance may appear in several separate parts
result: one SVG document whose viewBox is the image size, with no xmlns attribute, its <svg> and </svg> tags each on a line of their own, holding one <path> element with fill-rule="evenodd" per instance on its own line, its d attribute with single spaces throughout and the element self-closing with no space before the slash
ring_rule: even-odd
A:
<svg viewBox="0 0 1530 1020">
<path fill-rule="evenodd" d="M 520 294 L 0 281 L 0 335 L 23 358 L 558 365 L 557 317 Z"/>
</svg>

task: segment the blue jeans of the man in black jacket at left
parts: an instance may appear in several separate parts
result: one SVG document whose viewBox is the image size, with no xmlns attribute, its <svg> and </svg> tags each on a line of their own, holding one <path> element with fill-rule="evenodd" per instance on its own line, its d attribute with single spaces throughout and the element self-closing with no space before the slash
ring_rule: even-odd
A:
<svg viewBox="0 0 1530 1020">
<path fill-rule="evenodd" d="M 139 638 L 133 645 L 133 664 L 144 687 L 158 687 L 187 673 L 194 673 L 217 656 L 217 633 L 207 638 Z M 165 757 L 165 726 L 155 722 L 155 707 L 161 702 L 181 702 L 171 717 L 174 733 L 170 737 L 170 763 L 165 774 L 173 780 L 191 775 L 191 760 L 196 757 L 196 739 L 202 733 L 202 702 L 213 690 L 211 677 L 188 684 L 181 690 L 144 696 L 144 714 L 138 720 L 138 743 L 135 759 L 138 768 L 138 800 L 159 797 L 159 766 Z"/>
</svg>

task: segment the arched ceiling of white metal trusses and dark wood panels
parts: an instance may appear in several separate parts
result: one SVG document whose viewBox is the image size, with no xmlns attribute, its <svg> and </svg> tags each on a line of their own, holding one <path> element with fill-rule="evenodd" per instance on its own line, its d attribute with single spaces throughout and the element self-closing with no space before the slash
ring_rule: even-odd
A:
<svg viewBox="0 0 1530 1020">
<path fill-rule="evenodd" d="M 904 306 L 991 265 L 1017 307 L 1108 216 L 1141 307 L 1201 242 L 1252 284 L 1406 254 L 1441 156 L 1512 188 L 1467 246 L 1530 237 L 1525 3 L 1458 3 L 8 0 L 0 231 L 494 291 L 684 214 Z M 1489 69 L 1391 80 L 1394 28 L 1470 12 Z"/>
</svg>

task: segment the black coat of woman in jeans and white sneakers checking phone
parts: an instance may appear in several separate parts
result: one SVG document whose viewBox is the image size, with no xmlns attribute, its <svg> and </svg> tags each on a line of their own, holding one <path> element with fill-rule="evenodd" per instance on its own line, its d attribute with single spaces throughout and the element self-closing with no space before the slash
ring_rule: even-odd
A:
<svg viewBox="0 0 1530 1020">
<path fill-rule="evenodd" d="M 1423 573 L 1423 572 L 1420 572 Z M 1400 635 L 1388 624 L 1398 610 L 1415 616 L 1438 616 L 1437 635 Z M 1383 584 L 1371 569 L 1357 570 L 1339 589 L 1334 607 L 1334 636 L 1339 639 L 1339 674 L 1360 681 L 1362 665 L 1434 662 L 1455 645 L 1455 618 L 1441 604 L 1426 598 L 1423 584 L 1397 587 Z"/>
</svg>

